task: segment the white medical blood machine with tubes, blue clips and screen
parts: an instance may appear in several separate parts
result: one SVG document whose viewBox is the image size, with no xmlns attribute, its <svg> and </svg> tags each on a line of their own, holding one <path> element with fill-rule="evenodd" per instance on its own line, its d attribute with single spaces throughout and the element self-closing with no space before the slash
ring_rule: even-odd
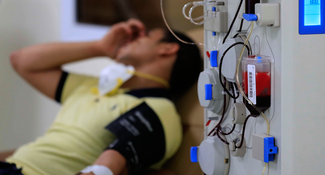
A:
<svg viewBox="0 0 325 175">
<path fill-rule="evenodd" d="M 183 15 L 204 25 L 191 161 L 206 175 L 323 174 L 325 0 L 194 1 Z"/>
</svg>

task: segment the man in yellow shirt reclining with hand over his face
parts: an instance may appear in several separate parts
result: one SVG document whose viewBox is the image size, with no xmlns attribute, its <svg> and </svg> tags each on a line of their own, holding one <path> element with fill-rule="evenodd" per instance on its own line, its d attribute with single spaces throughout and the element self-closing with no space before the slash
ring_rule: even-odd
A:
<svg viewBox="0 0 325 175">
<path fill-rule="evenodd" d="M 60 68 L 95 56 L 118 64 L 104 68 L 99 78 Z M 0 174 L 173 174 L 153 170 L 181 143 L 181 121 L 170 99 L 196 81 L 197 46 L 179 42 L 164 28 L 146 32 L 130 19 L 98 41 L 29 46 L 10 59 L 26 81 L 62 108 L 42 137 L 0 162 Z"/>
</svg>

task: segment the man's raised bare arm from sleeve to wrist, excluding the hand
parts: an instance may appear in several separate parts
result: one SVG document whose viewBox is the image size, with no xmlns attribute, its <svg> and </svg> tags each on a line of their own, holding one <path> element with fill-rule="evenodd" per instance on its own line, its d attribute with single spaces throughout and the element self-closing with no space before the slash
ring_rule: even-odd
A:
<svg viewBox="0 0 325 175">
<path fill-rule="evenodd" d="M 49 43 L 15 51 L 10 61 L 20 76 L 54 99 L 62 64 L 100 55 L 96 42 Z"/>
</svg>

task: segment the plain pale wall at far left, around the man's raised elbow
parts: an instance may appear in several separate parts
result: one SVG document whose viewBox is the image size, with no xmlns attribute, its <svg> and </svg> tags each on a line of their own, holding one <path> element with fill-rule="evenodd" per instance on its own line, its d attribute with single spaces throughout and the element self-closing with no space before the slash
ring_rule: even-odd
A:
<svg viewBox="0 0 325 175">
<path fill-rule="evenodd" d="M 0 150 L 18 147 L 44 133 L 59 105 L 40 95 L 12 70 L 10 52 L 59 40 L 59 0 L 0 3 Z"/>
</svg>

